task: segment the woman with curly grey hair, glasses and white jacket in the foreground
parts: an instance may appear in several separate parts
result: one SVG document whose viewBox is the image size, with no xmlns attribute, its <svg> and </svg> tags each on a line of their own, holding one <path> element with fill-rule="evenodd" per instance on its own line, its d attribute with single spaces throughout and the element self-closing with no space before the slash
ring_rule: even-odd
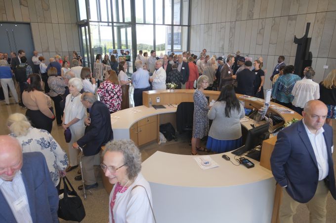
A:
<svg viewBox="0 0 336 223">
<path fill-rule="evenodd" d="M 100 164 L 110 184 L 110 223 L 154 223 L 152 193 L 140 173 L 141 153 L 129 139 L 113 140 L 105 145 Z"/>
</svg>

